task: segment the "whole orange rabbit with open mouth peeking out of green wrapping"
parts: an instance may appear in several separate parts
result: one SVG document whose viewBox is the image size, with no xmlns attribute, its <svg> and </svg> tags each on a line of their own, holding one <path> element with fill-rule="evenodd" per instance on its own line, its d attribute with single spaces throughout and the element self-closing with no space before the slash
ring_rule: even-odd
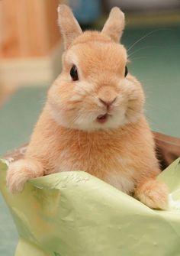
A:
<svg viewBox="0 0 180 256">
<path fill-rule="evenodd" d="M 19 193 L 29 179 L 84 170 L 152 209 L 167 209 L 143 88 L 128 73 L 119 43 L 124 13 L 112 8 L 101 32 L 82 32 L 67 5 L 58 14 L 63 71 L 50 86 L 24 159 L 8 168 L 8 189 Z"/>
</svg>

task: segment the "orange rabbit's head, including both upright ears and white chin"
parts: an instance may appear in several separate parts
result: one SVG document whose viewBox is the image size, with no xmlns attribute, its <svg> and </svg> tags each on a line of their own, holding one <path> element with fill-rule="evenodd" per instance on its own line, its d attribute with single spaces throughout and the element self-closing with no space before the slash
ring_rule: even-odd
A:
<svg viewBox="0 0 180 256">
<path fill-rule="evenodd" d="M 144 94 L 127 71 L 127 51 L 119 44 L 124 13 L 112 8 L 101 32 L 82 33 L 72 11 L 60 5 L 63 71 L 51 86 L 47 105 L 52 118 L 66 128 L 96 131 L 136 122 Z"/>
</svg>

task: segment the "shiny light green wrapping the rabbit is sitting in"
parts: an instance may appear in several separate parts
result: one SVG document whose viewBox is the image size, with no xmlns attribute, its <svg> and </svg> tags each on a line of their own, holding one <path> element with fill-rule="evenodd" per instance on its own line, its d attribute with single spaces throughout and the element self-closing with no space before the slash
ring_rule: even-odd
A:
<svg viewBox="0 0 180 256">
<path fill-rule="evenodd" d="M 159 175 L 169 186 L 167 211 L 136 199 L 82 171 L 29 180 L 23 193 L 0 188 L 18 229 L 15 256 L 180 255 L 179 160 Z"/>
</svg>

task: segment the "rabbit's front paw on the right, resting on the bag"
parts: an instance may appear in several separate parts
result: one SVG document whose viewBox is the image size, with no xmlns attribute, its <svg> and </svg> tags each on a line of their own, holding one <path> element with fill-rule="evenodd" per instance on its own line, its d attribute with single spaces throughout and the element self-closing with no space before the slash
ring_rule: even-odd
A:
<svg viewBox="0 0 180 256">
<path fill-rule="evenodd" d="M 135 196 L 152 209 L 167 209 L 169 206 L 168 187 L 159 180 L 146 181 L 137 187 Z"/>
</svg>

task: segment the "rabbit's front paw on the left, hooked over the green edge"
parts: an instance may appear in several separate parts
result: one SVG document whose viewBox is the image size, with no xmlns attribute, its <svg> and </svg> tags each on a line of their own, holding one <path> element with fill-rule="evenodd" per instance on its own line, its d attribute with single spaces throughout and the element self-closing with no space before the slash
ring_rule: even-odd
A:
<svg viewBox="0 0 180 256">
<path fill-rule="evenodd" d="M 11 193 L 19 193 L 24 188 L 24 183 L 35 177 L 43 176 L 43 168 L 36 160 L 18 160 L 8 167 L 6 177 L 8 189 Z"/>
</svg>

